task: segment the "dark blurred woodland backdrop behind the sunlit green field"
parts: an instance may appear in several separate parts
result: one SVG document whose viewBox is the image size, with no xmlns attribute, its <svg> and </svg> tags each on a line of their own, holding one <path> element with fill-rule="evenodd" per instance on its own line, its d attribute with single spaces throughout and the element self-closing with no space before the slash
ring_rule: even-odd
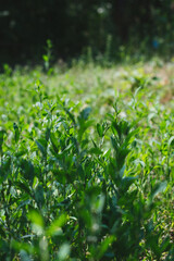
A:
<svg viewBox="0 0 174 261">
<path fill-rule="evenodd" d="M 46 40 L 53 57 L 67 60 L 120 46 L 132 51 L 174 50 L 173 0 L 1 0 L 0 63 L 39 61 Z M 164 51 L 165 50 L 165 51 Z"/>
</svg>

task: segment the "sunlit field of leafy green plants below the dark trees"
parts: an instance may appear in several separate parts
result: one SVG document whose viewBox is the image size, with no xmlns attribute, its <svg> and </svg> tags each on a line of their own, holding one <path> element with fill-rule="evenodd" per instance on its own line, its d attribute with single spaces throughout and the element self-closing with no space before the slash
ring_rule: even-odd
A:
<svg viewBox="0 0 174 261">
<path fill-rule="evenodd" d="M 174 260 L 174 63 L 0 74 L 0 260 Z"/>
</svg>

